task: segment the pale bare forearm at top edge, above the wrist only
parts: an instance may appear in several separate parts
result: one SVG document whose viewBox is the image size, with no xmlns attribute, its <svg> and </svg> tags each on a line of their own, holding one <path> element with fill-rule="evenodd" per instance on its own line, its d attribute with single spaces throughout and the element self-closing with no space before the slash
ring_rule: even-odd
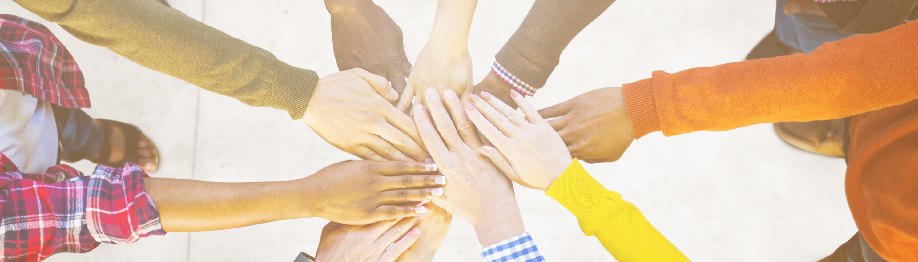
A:
<svg viewBox="0 0 918 262">
<path fill-rule="evenodd" d="M 468 30 L 477 3 L 477 0 L 440 0 L 427 45 L 441 51 L 467 52 Z"/>
</svg>

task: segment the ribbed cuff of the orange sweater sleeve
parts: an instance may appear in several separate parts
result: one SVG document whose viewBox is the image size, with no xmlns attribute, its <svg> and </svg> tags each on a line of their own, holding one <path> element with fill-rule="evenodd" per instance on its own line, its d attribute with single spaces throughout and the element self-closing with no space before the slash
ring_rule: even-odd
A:
<svg viewBox="0 0 918 262">
<path fill-rule="evenodd" d="M 625 95 L 628 118 L 632 120 L 634 139 L 645 134 L 661 131 L 660 119 L 656 115 L 654 100 L 654 78 L 647 78 L 632 84 L 621 85 Z"/>
</svg>

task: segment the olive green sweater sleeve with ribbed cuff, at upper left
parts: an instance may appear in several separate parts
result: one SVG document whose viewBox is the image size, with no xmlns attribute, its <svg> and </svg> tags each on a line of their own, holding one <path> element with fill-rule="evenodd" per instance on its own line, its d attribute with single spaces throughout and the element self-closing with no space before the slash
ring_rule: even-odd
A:
<svg viewBox="0 0 918 262">
<path fill-rule="evenodd" d="M 256 107 L 303 116 L 316 72 L 153 0 L 14 0 L 74 37 L 152 70 Z"/>
</svg>

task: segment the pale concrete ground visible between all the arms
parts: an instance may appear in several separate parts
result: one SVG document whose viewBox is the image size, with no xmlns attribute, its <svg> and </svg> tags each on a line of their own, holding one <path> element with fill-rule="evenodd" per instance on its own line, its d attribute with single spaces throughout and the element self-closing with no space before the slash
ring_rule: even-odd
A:
<svg viewBox="0 0 918 262">
<path fill-rule="evenodd" d="M 480 80 L 533 0 L 479 1 L 469 51 Z M 321 1 L 170 0 L 186 15 L 262 47 L 319 75 L 337 71 L 330 17 Z M 417 57 L 430 33 L 436 1 L 377 0 Z M 774 1 L 620 0 L 570 46 L 546 88 L 531 97 L 543 108 L 588 90 L 631 83 L 654 70 L 677 72 L 731 63 L 772 28 Z M 298 120 L 252 108 L 106 49 L 74 39 L 17 6 L 5 13 L 51 28 L 83 69 L 96 118 L 140 126 L 162 154 L 153 177 L 267 181 L 306 177 L 345 159 Z M 77 163 L 89 171 L 94 165 Z M 733 131 L 633 142 L 616 163 L 586 165 L 603 185 L 632 201 L 660 232 L 695 261 L 816 261 L 856 227 L 844 194 L 845 162 L 806 154 L 781 142 L 770 124 Z M 614 261 L 573 215 L 540 191 L 517 188 L 527 230 L 551 261 Z M 178 233 L 47 261 L 291 261 L 313 253 L 322 219 L 239 229 Z M 454 220 L 435 261 L 478 261 L 481 246 L 467 222 Z"/>
</svg>

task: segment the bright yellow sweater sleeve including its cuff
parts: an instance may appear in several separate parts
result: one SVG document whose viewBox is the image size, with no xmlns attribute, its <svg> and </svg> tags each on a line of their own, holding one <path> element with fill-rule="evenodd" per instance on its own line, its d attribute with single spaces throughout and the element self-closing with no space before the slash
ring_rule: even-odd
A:
<svg viewBox="0 0 918 262">
<path fill-rule="evenodd" d="M 545 194 L 574 213 L 583 233 L 596 235 L 618 261 L 689 261 L 641 211 L 619 193 L 603 188 L 577 159 Z"/>
</svg>

